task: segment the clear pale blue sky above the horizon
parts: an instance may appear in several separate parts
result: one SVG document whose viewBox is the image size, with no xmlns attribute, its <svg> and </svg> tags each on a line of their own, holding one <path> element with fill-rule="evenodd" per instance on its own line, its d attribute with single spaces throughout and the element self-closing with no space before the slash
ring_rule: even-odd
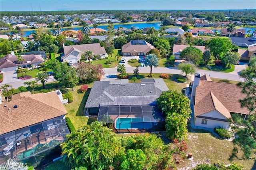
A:
<svg viewBox="0 0 256 170">
<path fill-rule="evenodd" d="M 0 11 L 256 9 L 256 0 L 0 0 Z"/>
</svg>

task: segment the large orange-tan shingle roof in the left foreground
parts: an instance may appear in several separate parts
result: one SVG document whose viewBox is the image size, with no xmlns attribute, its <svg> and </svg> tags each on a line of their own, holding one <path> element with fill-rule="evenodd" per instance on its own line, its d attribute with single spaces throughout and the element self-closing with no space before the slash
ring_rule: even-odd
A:
<svg viewBox="0 0 256 170">
<path fill-rule="evenodd" d="M 17 108 L 13 108 L 14 105 Z M 16 95 L 12 101 L 0 104 L 0 134 L 66 114 L 67 111 L 56 93 Z"/>
</svg>

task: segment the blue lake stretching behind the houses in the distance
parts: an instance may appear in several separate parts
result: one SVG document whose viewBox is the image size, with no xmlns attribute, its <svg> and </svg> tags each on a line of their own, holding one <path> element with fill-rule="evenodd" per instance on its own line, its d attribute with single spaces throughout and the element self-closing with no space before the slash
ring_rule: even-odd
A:
<svg viewBox="0 0 256 170">
<path fill-rule="evenodd" d="M 140 28 L 140 29 L 142 29 L 142 28 L 145 28 L 145 27 L 154 27 L 154 28 L 156 28 L 157 30 L 161 27 L 160 26 L 160 24 L 161 24 L 161 22 L 152 22 L 152 23 L 132 23 L 132 24 L 118 24 L 118 25 L 114 25 L 114 28 L 115 29 L 117 29 L 118 27 L 125 27 L 125 28 L 131 28 L 132 26 L 136 26 L 136 27 L 138 27 L 138 28 Z M 92 25 L 88 25 L 89 27 L 92 27 Z M 107 27 L 108 26 L 100 26 L 100 25 L 98 25 L 98 27 L 97 28 L 102 28 L 102 29 L 104 29 L 104 30 L 108 30 L 107 29 Z M 64 31 L 64 30 L 81 30 L 82 29 L 82 27 L 80 27 L 80 28 L 61 28 L 60 30 L 61 31 Z M 49 31 L 52 31 L 52 32 L 54 32 L 54 30 L 56 30 L 56 29 L 51 29 L 51 30 L 49 30 Z M 35 31 L 34 30 L 31 30 L 31 31 L 24 31 L 24 35 L 23 35 L 23 37 L 26 37 L 26 36 L 29 36 L 30 34 L 32 34 L 32 33 L 34 33 Z"/>
</svg>

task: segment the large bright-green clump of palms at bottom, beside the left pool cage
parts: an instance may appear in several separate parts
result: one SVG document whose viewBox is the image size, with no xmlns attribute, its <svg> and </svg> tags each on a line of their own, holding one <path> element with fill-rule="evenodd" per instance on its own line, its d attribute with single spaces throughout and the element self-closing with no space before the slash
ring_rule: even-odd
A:
<svg viewBox="0 0 256 170">
<path fill-rule="evenodd" d="M 93 122 L 67 135 L 61 144 L 65 163 L 71 168 L 107 169 L 118 153 L 120 142 L 112 129 Z"/>
</svg>

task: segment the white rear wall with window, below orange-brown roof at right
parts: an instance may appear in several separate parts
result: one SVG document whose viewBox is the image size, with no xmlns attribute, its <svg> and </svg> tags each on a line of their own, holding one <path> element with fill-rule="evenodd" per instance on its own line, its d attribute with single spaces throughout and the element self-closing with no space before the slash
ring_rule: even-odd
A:
<svg viewBox="0 0 256 170">
<path fill-rule="evenodd" d="M 207 124 L 202 124 L 202 118 L 195 117 L 195 126 L 198 127 L 206 127 L 206 128 L 215 128 L 215 127 L 222 127 L 222 128 L 228 128 L 230 123 L 229 122 L 222 122 L 222 121 L 215 121 L 211 119 L 206 119 Z"/>
</svg>

